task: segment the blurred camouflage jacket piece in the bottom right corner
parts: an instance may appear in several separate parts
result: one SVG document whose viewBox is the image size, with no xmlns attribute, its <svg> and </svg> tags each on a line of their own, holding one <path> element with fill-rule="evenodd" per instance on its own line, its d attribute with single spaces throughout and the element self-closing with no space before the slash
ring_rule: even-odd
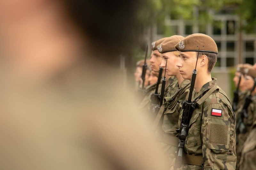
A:
<svg viewBox="0 0 256 170">
<path fill-rule="evenodd" d="M 253 122 L 252 129 L 244 142 L 241 160 L 239 162 L 240 170 L 256 169 L 256 121 Z"/>
</svg>

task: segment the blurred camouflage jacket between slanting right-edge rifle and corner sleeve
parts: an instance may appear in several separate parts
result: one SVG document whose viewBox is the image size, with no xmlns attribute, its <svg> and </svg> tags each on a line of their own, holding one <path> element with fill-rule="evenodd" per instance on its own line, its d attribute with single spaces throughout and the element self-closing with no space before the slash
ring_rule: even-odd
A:
<svg viewBox="0 0 256 170">
<path fill-rule="evenodd" d="M 237 156 L 236 165 L 238 165 L 240 162 L 241 152 L 242 152 L 244 142 L 249 135 L 252 123 L 256 120 L 256 95 L 252 96 L 252 102 L 250 103 L 247 109 L 247 116 L 248 117 L 244 117 L 244 120 L 243 120 L 243 123 L 245 125 L 245 133 L 239 133 L 238 135 L 238 144 L 236 145 L 236 156 Z M 237 115 L 237 118 L 240 118 L 240 114 Z"/>
</svg>

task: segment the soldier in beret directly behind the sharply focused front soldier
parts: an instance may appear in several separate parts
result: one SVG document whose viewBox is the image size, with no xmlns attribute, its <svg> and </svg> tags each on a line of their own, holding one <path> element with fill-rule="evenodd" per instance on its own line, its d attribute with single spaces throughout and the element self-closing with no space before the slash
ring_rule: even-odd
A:
<svg viewBox="0 0 256 170">
<path fill-rule="evenodd" d="M 182 78 L 179 68 L 176 66 L 179 60 L 179 52 L 174 46 L 183 39 L 184 37 L 180 35 L 173 35 L 158 45 L 158 51 L 162 53 L 163 58 L 160 66 L 165 68 L 167 60 L 166 74 L 177 79 L 176 83 L 172 85 L 169 94 L 167 94 L 170 97 L 164 98 L 164 104 L 159 110 L 158 115 L 160 114 L 163 119 L 156 120 L 161 121 L 159 125 L 162 130 L 157 130 L 156 133 L 159 134 L 156 134 L 156 136 L 159 138 L 159 145 L 167 159 L 166 166 L 168 170 L 175 158 L 175 151 L 178 146 L 178 133 L 176 129 L 178 129 L 179 115 L 182 113 L 180 112 L 182 110 L 182 101 L 186 99 L 190 87 L 190 81 Z"/>
</svg>

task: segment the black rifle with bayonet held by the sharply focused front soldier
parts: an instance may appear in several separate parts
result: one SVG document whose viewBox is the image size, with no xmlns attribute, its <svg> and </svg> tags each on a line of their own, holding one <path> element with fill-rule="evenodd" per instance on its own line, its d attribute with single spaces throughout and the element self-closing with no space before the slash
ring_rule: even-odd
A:
<svg viewBox="0 0 256 170">
<path fill-rule="evenodd" d="M 198 55 L 199 55 L 199 49 L 198 49 L 197 58 L 196 58 L 196 65 L 197 65 Z M 192 113 L 195 109 L 194 101 L 191 101 L 191 99 L 192 99 L 193 89 L 195 86 L 196 74 L 197 74 L 197 70 L 195 68 L 193 69 L 193 73 L 192 73 L 188 100 L 185 100 L 182 102 L 183 114 L 180 122 L 180 129 L 176 129 L 176 131 L 179 133 L 179 145 L 176 152 L 174 169 L 181 167 L 182 160 L 184 157 L 185 140 L 186 140 L 186 137 L 188 136 L 188 125 L 189 125 L 189 121 L 191 119 Z"/>
</svg>

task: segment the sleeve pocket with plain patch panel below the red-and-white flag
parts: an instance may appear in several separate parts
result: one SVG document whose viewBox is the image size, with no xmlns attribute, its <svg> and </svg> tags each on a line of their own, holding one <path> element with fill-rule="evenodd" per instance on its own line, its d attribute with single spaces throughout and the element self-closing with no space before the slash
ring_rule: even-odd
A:
<svg viewBox="0 0 256 170">
<path fill-rule="evenodd" d="M 204 148 L 212 149 L 216 154 L 233 151 L 234 126 L 230 126 L 229 121 L 204 117 L 202 128 Z"/>
</svg>

